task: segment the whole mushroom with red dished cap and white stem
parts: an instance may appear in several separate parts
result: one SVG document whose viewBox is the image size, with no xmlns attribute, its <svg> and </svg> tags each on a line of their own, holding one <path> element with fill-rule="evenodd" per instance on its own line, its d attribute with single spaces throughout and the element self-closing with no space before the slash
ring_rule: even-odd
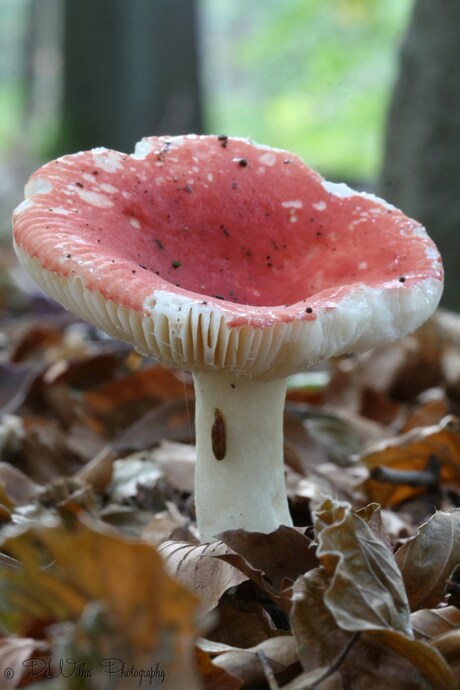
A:
<svg viewBox="0 0 460 690">
<path fill-rule="evenodd" d="M 204 540 L 289 525 L 286 379 L 415 330 L 442 292 L 425 230 L 243 139 L 151 137 L 32 175 L 17 255 L 65 307 L 191 370 Z"/>
</svg>

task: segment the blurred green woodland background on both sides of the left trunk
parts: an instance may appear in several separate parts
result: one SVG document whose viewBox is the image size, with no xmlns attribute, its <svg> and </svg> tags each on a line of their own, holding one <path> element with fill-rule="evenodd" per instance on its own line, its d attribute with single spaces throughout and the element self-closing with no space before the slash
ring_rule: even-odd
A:
<svg viewBox="0 0 460 690">
<path fill-rule="evenodd" d="M 32 5 L 0 0 L 3 156 L 19 145 L 46 157 L 62 124 L 63 3 Z M 296 151 L 332 176 L 375 179 L 410 8 L 410 0 L 201 0 L 203 129 Z"/>
</svg>

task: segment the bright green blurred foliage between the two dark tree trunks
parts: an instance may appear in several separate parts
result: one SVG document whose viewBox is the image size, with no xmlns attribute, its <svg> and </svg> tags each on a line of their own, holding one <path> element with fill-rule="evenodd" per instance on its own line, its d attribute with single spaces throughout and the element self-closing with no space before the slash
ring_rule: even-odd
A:
<svg viewBox="0 0 460 690">
<path fill-rule="evenodd" d="M 370 179 L 411 0 L 203 0 L 210 129 Z"/>
</svg>

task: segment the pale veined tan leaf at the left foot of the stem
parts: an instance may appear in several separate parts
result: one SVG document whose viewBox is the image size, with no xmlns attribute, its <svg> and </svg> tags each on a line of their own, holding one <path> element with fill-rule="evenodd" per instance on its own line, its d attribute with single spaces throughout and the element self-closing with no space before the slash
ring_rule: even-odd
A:
<svg viewBox="0 0 460 690">
<path fill-rule="evenodd" d="M 230 587 L 247 580 L 216 556 L 232 553 L 221 541 L 210 544 L 166 541 L 158 547 L 166 570 L 200 598 L 203 612 L 212 611 Z"/>
</svg>

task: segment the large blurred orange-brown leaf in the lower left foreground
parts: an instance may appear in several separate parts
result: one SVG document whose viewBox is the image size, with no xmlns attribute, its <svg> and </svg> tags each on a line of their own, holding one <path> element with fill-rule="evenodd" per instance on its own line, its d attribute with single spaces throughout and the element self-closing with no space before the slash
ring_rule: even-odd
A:
<svg viewBox="0 0 460 690">
<path fill-rule="evenodd" d="M 197 690 L 190 667 L 198 601 L 165 573 L 153 547 L 77 523 L 73 531 L 24 530 L 3 548 L 23 564 L 21 571 L 0 567 L 0 618 L 7 626 L 20 632 L 34 621 L 76 622 L 100 602 L 127 664 L 153 658 L 171 687 L 183 687 L 188 676 L 188 687 Z"/>
</svg>

